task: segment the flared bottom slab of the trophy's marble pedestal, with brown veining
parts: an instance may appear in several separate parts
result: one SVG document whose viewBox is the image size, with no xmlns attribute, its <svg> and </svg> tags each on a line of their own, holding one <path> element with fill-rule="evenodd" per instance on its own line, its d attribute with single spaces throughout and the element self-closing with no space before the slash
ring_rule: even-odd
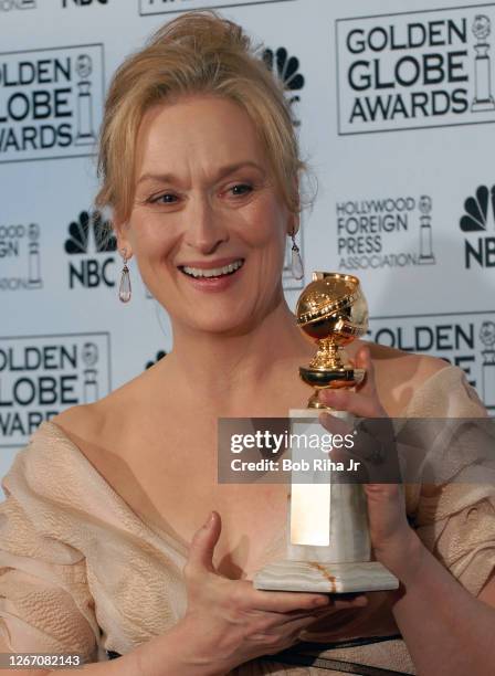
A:
<svg viewBox="0 0 495 676">
<path fill-rule="evenodd" d="M 271 591 L 351 592 L 398 589 L 398 579 L 379 561 L 319 563 L 316 561 L 274 561 L 260 570 L 253 580 L 255 589 Z"/>
</svg>

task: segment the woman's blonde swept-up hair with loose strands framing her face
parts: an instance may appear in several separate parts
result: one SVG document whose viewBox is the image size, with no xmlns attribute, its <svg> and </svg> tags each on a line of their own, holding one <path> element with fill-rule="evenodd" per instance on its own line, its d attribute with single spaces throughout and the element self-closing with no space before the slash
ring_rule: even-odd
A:
<svg viewBox="0 0 495 676">
<path fill-rule="evenodd" d="M 187 12 L 160 28 L 116 71 L 99 138 L 98 208 L 126 221 L 134 200 L 136 138 L 144 114 L 179 96 L 208 94 L 241 105 L 263 142 L 288 210 L 301 210 L 298 142 L 282 82 L 256 56 L 242 28 L 213 11 Z"/>
</svg>

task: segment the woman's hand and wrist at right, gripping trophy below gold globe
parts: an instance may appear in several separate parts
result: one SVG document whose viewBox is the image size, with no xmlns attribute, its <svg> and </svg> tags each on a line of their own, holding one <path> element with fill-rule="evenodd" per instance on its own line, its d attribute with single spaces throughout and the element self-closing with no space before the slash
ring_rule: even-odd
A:
<svg viewBox="0 0 495 676">
<path fill-rule="evenodd" d="M 365 381 L 356 388 L 357 391 L 320 390 L 320 401 L 336 411 L 348 411 L 357 418 L 388 418 L 378 398 L 369 348 L 359 349 L 355 366 L 366 370 Z M 331 432 L 336 432 L 336 427 L 343 425 L 343 422 L 333 418 L 331 414 L 323 414 L 320 422 Z M 389 468 L 391 467 L 393 472 L 397 458 L 389 460 Z M 387 458 L 385 461 L 387 465 Z M 383 469 L 386 471 L 387 468 Z M 368 483 L 364 484 L 364 488 L 368 501 L 375 556 L 397 577 L 403 579 L 418 567 L 422 548 L 407 520 L 402 486 L 394 483 Z"/>
</svg>

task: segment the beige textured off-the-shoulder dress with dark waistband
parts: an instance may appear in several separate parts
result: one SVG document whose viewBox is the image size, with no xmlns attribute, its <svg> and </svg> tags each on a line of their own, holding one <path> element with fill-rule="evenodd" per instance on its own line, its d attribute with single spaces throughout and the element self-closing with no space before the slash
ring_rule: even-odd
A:
<svg viewBox="0 0 495 676">
<path fill-rule="evenodd" d="M 483 414 L 456 367 L 434 373 L 403 412 Z M 104 661 L 107 651 L 128 653 L 183 615 L 187 547 L 144 522 L 56 425 L 39 427 L 2 486 L 0 643 L 10 652 L 77 652 L 88 662 Z M 477 594 L 495 568 L 495 476 L 486 484 L 447 483 L 434 497 L 410 486 L 407 508 L 425 546 Z M 281 528 L 266 560 L 283 557 L 284 534 Z M 301 644 L 234 673 L 414 674 L 400 636 L 338 646 L 322 635 L 309 640 L 322 643 Z"/>
</svg>

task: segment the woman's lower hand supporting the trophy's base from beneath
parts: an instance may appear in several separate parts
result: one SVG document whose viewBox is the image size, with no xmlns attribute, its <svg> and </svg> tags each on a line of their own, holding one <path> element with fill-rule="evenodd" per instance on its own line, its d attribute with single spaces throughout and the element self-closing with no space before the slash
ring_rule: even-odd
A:
<svg viewBox="0 0 495 676">
<path fill-rule="evenodd" d="M 183 571 L 188 609 L 180 624 L 190 641 L 191 666 L 227 674 L 244 662 L 297 643 L 299 633 L 325 614 L 367 604 L 362 594 L 349 600 L 260 591 L 247 580 L 224 578 L 212 561 L 220 531 L 221 519 L 213 511 L 194 535 Z"/>
</svg>

